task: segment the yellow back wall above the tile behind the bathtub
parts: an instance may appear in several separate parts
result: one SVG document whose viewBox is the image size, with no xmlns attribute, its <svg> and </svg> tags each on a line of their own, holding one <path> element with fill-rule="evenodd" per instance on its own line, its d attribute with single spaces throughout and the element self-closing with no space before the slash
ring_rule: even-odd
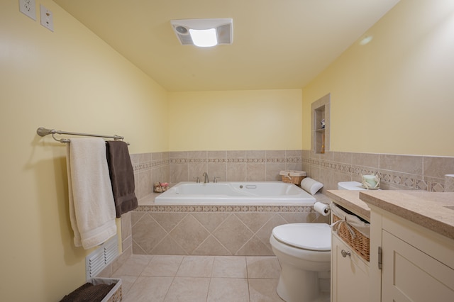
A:
<svg viewBox="0 0 454 302">
<path fill-rule="evenodd" d="M 299 150 L 301 89 L 169 93 L 170 150 Z"/>
</svg>

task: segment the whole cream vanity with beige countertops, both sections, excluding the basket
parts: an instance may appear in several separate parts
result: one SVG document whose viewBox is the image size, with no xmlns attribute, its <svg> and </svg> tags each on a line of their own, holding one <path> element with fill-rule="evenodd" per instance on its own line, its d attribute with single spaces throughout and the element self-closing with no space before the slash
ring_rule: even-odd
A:
<svg viewBox="0 0 454 302">
<path fill-rule="evenodd" d="M 370 221 L 369 262 L 332 235 L 331 301 L 454 301 L 454 193 L 369 190 L 358 201 L 328 190 L 328 196 L 353 213 L 368 209 L 369 217 L 361 217 Z"/>
</svg>

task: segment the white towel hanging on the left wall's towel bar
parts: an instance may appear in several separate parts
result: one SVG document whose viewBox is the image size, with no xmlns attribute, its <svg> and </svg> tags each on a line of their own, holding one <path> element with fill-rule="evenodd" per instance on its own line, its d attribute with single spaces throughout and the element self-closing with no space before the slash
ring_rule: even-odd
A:
<svg viewBox="0 0 454 302">
<path fill-rule="evenodd" d="M 106 143 L 101 138 L 72 138 L 66 162 L 74 245 L 88 250 L 116 235 Z"/>
</svg>

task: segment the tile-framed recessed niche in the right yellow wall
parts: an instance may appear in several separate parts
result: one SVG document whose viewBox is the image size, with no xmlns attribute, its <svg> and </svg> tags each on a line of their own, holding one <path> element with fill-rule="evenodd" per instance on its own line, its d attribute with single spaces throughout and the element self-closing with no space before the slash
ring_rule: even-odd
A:
<svg viewBox="0 0 454 302">
<path fill-rule="evenodd" d="M 311 150 L 314 150 L 316 154 L 329 151 L 330 101 L 331 94 L 326 94 L 311 104 Z"/>
</svg>

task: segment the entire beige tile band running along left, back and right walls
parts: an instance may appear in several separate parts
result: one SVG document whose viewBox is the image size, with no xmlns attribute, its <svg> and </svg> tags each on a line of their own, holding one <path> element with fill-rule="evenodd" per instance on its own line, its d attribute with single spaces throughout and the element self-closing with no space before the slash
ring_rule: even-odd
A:
<svg viewBox="0 0 454 302">
<path fill-rule="evenodd" d="M 239 150 L 153 152 L 131 155 L 135 194 L 153 192 L 153 183 L 195 181 L 208 172 L 209 180 L 276 181 L 284 169 L 304 170 L 324 184 L 322 191 L 337 189 L 339 181 L 361 181 L 361 174 L 380 172 L 384 189 L 444 191 L 445 174 L 454 174 L 454 157 L 389 155 L 309 150 Z M 448 183 L 447 183 L 448 184 Z M 449 187 L 449 186 L 448 186 Z"/>
</svg>

